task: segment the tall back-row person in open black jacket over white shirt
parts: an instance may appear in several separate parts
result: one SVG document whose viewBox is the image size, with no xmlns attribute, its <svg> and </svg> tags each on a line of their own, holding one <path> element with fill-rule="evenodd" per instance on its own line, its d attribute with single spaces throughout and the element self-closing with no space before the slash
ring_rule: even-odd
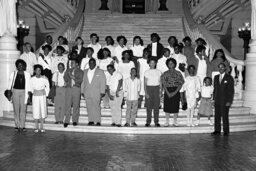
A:
<svg viewBox="0 0 256 171">
<path fill-rule="evenodd" d="M 164 46 L 159 43 L 160 36 L 157 33 L 151 34 L 151 42 L 147 49 L 150 51 L 152 57 L 155 57 L 157 60 L 163 56 Z"/>
</svg>

